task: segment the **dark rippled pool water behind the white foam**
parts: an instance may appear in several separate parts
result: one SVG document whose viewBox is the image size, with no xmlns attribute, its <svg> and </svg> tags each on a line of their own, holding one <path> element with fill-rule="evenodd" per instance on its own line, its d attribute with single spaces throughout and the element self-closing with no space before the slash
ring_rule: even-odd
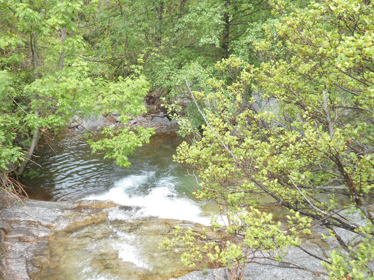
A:
<svg viewBox="0 0 374 280">
<path fill-rule="evenodd" d="M 22 180 L 31 199 L 72 201 L 88 195 L 98 195 L 129 175 L 154 172 L 154 184 L 163 177 L 175 177 L 178 192 L 192 198 L 194 181 L 186 176 L 186 169 L 172 162 L 175 148 L 183 141 L 175 134 L 155 135 L 151 143 L 130 156 L 130 168 L 118 167 L 112 159 L 103 159 L 103 153 L 92 154 L 82 134 L 65 134 L 61 141 L 44 145 L 37 152 L 37 163 L 27 166 L 40 176 Z M 159 181 L 159 182 L 157 182 Z"/>
</svg>

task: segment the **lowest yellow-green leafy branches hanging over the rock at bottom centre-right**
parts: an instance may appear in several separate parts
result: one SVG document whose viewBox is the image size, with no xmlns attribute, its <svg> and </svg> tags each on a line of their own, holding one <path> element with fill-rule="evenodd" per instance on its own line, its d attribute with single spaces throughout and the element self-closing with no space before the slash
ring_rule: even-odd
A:
<svg viewBox="0 0 374 280">
<path fill-rule="evenodd" d="M 175 238 L 164 239 L 160 248 L 169 250 L 171 246 L 181 242 L 187 248 L 181 255 L 183 264 L 195 267 L 196 263 L 208 261 L 215 267 L 228 268 L 230 275 L 236 275 L 256 256 L 282 261 L 289 246 L 300 245 L 295 227 L 290 231 L 283 231 L 281 222 L 275 223 L 272 214 L 266 214 L 252 206 L 227 206 L 229 210 L 226 212 L 226 225 L 223 221 L 217 222 L 217 217 L 212 218 L 213 229 L 218 238 L 208 236 L 205 229 L 199 233 L 192 228 L 183 231 L 176 226 Z M 310 226 L 310 220 L 300 218 L 298 213 L 294 218 L 300 225 Z"/>
</svg>

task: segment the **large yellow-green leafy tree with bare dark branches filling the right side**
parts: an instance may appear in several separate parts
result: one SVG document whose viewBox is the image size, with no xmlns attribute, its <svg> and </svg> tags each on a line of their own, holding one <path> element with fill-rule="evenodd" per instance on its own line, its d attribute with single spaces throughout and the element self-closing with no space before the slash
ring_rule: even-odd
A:
<svg viewBox="0 0 374 280">
<path fill-rule="evenodd" d="M 204 105 L 205 125 L 202 133 L 185 125 L 195 138 L 178 147 L 175 161 L 196 169 L 203 180 L 196 197 L 220 205 L 227 225 L 213 223 L 223 242 L 203 246 L 178 229 L 190 246 L 184 263 L 205 257 L 235 279 L 255 252 L 278 252 L 268 257 L 279 261 L 288 246 L 308 252 L 302 241 L 318 225 L 336 244 L 317 256 L 331 279 L 373 279 L 373 3 L 273 7 L 275 32 L 265 26 L 268 38 L 255 44 L 261 67 L 223 59 L 216 69 L 229 79 L 191 93 Z M 261 100 L 273 106 L 265 110 Z M 291 213 L 290 225 L 263 213 L 269 199 Z"/>
</svg>

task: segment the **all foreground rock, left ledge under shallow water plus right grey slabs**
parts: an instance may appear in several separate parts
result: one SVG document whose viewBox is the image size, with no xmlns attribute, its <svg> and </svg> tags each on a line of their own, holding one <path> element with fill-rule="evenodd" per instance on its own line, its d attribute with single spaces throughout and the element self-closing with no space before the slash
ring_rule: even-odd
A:
<svg viewBox="0 0 374 280">
<path fill-rule="evenodd" d="M 58 279 L 73 279 L 71 277 L 74 273 L 78 277 L 76 279 L 88 279 L 88 276 L 91 277 L 89 279 L 112 279 L 113 275 L 116 275 L 116 279 L 126 280 L 172 279 L 190 271 L 179 261 L 178 251 L 183 248 L 176 247 L 175 252 L 166 252 L 157 249 L 157 244 L 163 237 L 170 237 L 177 224 L 184 227 L 198 225 L 158 218 L 125 221 L 118 216 L 123 211 L 129 209 L 123 209 L 112 202 L 68 203 L 37 200 L 27 200 L 25 205 L 17 203 L 9 209 L 2 209 L 0 216 L 6 221 L 6 225 L 2 226 L 6 233 L 5 240 L 1 243 L 1 249 L 5 253 L 5 258 L 2 255 L 3 264 L 6 259 L 2 279 L 55 279 L 56 275 L 62 277 Z M 127 234 L 130 232 L 139 240 L 129 238 Z M 147 234 L 150 235 L 147 237 Z M 141 241 L 142 239 L 144 241 Z M 123 242 L 150 244 L 142 249 L 136 249 L 135 245 L 128 245 L 126 248 L 113 246 Z M 308 241 L 306 246 L 308 249 L 316 247 L 313 241 Z M 122 249 L 125 254 L 123 256 Z M 82 261 L 82 254 L 88 254 L 87 257 L 83 256 L 86 261 Z M 135 259 L 131 259 L 132 257 Z M 147 258 L 168 261 L 157 267 L 156 264 L 147 267 L 142 263 Z M 326 276 L 318 274 L 318 271 L 323 271 L 320 261 L 298 248 L 289 249 L 284 260 L 316 272 L 285 268 L 285 264 L 280 263 L 249 264 L 244 279 L 327 279 Z M 134 262 L 137 269 L 124 268 L 126 261 Z M 91 270 L 93 264 L 97 271 L 85 271 Z M 76 271 L 70 273 L 67 270 Z M 217 280 L 227 277 L 223 268 L 220 268 L 193 271 L 177 279 Z"/>
</svg>

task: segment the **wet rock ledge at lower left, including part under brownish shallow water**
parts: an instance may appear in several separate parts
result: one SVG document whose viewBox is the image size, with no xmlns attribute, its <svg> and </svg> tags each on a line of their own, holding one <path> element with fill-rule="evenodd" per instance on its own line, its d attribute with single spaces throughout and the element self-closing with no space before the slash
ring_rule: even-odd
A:
<svg viewBox="0 0 374 280">
<path fill-rule="evenodd" d="M 160 280 L 191 271 L 180 264 L 181 248 L 158 248 L 183 221 L 123 220 L 113 214 L 123 208 L 111 202 L 24 203 L 1 210 L 9 228 L 4 279 Z"/>
</svg>

